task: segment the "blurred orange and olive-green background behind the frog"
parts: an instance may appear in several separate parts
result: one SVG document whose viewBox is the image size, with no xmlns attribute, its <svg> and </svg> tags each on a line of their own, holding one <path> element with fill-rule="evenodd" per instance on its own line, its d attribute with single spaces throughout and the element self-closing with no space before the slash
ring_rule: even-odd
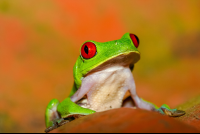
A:
<svg viewBox="0 0 200 134">
<path fill-rule="evenodd" d="M 86 40 L 140 39 L 140 97 L 174 108 L 200 94 L 199 0 L 0 0 L 0 132 L 44 132 Z"/>
</svg>

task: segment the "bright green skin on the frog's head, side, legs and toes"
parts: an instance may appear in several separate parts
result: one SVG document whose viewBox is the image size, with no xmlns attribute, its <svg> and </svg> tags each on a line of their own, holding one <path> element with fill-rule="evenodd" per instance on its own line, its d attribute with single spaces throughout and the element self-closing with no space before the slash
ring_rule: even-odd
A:
<svg viewBox="0 0 200 134">
<path fill-rule="evenodd" d="M 46 127 L 53 126 L 55 122 L 60 122 L 63 118 L 66 118 L 70 115 L 74 114 L 82 114 L 82 115 L 88 115 L 95 113 L 95 111 L 82 108 L 81 106 L 77 105 L 76 103 L 72 102 L 70 100 L 70 97 L 75 94 L 75 92 L 79 89 L 82 83 L 83 77 L 92 69 L 98 67 L 102 63 L 117 57 L 121 54 L 126 54 L 129 52 L 134 52 L 136 54 L 135 63 L 140 58 L 140 53 L 137 50 L 137 48 L 134 46 L 129 33 L 126 33 L 123 35 L 123 37 L 119 40 L 99 43 L 95 41 L 87 41 L 87 42 L 93 42 L 96 45 L 97 48 L 97 54 L 91 58 L 91 59 L 84 59 L 82 56 L 79 56 L 74 68 L 73 68 L 73 76 L 74 76 L 74 85 L 72 87 L 72 90 L 70 92 L 70 95 L 68 98 L 66 98 L 64 101 L 59 103 L 57 99 L 53 99 L 49 102 L 46 113 L 45 113 L 45 122 Z M 146 101 L 147 102 L 147 101 Z M 150 102 L 148 102 L 150 103 Z M 151 103 L 152 104 L 152 103 Z M 158 111 L 161 114 L 165 114 L 161 108 L 168 109 L 170 111 L 176 111 L 176 109 L 170 109 L 169 106 L 166 104 L 162 105 L 160 108 L 158 108 L 155 104 L 156 111 Z M 52 119 L 52 109 L 55 108 L 57 112 L 59 113 L 59 117 Z"/>
</svg>

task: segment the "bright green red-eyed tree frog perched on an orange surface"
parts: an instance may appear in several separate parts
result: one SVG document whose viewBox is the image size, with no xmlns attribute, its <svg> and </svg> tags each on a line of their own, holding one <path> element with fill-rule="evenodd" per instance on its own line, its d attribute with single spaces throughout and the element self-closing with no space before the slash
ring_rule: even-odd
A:
<svg viewBox="0 0 200 134">
<path fill-rule="evenodd" d="M 140 60 L 139 38 L 125 33 L 109 42 L 88 40 L 80 47 L 73 67 L 74 83 L 69 96 L 62 102 L 52 99 L 46 108 L 45 132 L 79 118 L 120 107 L 140 108 L 167 116 L 182 116 L 185 111 L 161 107 L 137 95 L 132 75 Z M 129 93 L 129 97 L 124 96 Z"/>
</svg>

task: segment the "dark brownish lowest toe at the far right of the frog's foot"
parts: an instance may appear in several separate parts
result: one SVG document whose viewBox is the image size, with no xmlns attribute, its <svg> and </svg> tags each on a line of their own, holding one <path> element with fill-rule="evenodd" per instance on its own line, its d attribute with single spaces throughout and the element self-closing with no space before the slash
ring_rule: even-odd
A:
<svg viewBox="0 0 200 134">
<path fill-rule="evenodd" d="M 161 108 L 161 110 L 168 116 L 171 117 L 178 117 L 178 116 L 182 116 L 185 114 L 185 111 L 182 110 L 177 110 L 177 109 L 166 109 L 166 108 Z"/>
</svg>

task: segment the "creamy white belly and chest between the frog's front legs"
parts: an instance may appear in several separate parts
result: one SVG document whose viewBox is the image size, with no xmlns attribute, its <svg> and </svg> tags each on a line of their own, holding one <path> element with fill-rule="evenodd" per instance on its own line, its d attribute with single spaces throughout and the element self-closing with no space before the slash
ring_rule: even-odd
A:
<svg viewBox="0 0 200 134">
<path fill-rule="evenodd" d="M 86 108 L 97 112 L 120 108 L 128 90 L 126 80 L 132 75 L 130 69 L 115 66 L 91 75 L 98 81 L 87 93 Z"/>
</svg>

